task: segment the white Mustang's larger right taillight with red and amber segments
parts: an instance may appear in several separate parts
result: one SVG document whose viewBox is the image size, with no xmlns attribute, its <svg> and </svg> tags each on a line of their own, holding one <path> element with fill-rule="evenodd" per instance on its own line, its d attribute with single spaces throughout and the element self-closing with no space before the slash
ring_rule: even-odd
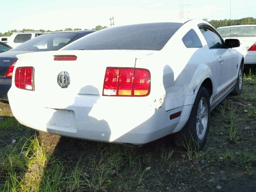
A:
<svg viewBox="0 0 256 192">
<path fill-rule="evenodd" d="M 104 96 L 147 96 L 150 93 L 150 72 L 139 68 L 106 69 Z"/>
</svg>

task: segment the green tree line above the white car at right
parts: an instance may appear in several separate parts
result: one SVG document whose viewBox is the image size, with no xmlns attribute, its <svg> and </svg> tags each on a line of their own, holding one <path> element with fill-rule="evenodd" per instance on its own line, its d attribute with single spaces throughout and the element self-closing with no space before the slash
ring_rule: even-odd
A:
<svg viewBox="0 0 256 192">
<path fill-rule="evenodd" d="M 242 19 L 224 19 L 224 20 L 210 20 L 203 19 L 207 22 L 209 22 L 214 28 L 218 27 L 225 27 L 230 25 L 255 25 L 256 24 L 256 18 L 253 17 L 246 17 Z"/>
</svg>

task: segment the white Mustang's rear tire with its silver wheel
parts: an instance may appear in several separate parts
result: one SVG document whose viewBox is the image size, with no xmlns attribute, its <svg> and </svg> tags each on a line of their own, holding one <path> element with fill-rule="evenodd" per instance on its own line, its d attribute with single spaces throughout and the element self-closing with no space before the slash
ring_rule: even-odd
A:
<svg viewBox="0 0 256 192">
<path fill-rule="evenodd" d="M 201 108 L 201 102 L 205 107 L 205 111 L 198 114 L 198 110 Z M 186 150 L 189 150 L 189 148 L 203 148 L 209 131 L 209 122 L 210 96 L 207 89 L 204 86 L 201 86 L 196 95 L 188 122 L 180 132 L 174 134 L 174 142 L 176 146 Z M 204 126 L 203 129 L 201 129 L 202 125 Z"/>
</svg>

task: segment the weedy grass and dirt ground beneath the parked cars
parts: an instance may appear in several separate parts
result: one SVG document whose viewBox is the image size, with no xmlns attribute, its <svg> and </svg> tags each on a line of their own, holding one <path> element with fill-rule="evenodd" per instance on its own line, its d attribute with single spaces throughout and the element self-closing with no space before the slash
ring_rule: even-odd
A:
<svg viewBox="0 0 256 192">
<path fill-rule="evenodd" d="M 246 74 L 244 92 L 229 96 L 211 113 L 210 132 L 202 150 L 193 143 L 180 150 L 168 136 L 141 148 L 50 134 L 38 136 L 37 132 L 20 125 L 8 105 L 2 104 L 0 191 L 187 192 L 200 188 L 208 192 L 214 191 L 216 185 L 226 191 L 253 191 L 256 178 L 254 77 L 252 72 Z M 16 139 L 14 144 L 13 139 Z"/>
</svg>

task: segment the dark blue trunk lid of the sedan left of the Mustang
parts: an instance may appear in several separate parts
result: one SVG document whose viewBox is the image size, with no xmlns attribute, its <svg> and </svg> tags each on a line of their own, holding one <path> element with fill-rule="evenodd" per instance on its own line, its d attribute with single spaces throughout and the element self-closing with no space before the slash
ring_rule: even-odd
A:
<svg viewBox="0 0 256 192">
<path fill-rule="evenodd" d="M 16 55 L 38 51 L 6 51 L 0 53 L 0 77 L 4 77 L 8 67 L 17 59 Z"/>
</svg>

